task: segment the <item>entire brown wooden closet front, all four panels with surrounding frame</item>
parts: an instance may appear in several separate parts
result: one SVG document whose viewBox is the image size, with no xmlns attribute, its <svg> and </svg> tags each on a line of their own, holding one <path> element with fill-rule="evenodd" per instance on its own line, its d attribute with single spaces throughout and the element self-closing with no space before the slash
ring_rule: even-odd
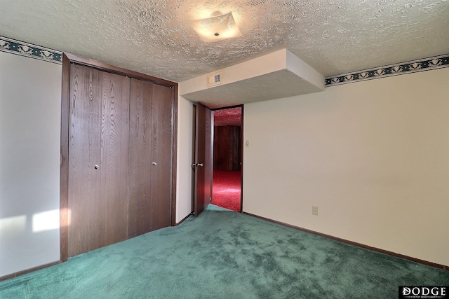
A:
<svg viewBox="0 0 449 299">
<path fill-rule="evenodd" d="M 172 224 L 177 85 L 69 54 L 64 68 L 62 124 L 69 128 L 61 144 L 62 174 L 67 170 L 60 185 L 61 256 L 67 260 Z"/>
</svg>

